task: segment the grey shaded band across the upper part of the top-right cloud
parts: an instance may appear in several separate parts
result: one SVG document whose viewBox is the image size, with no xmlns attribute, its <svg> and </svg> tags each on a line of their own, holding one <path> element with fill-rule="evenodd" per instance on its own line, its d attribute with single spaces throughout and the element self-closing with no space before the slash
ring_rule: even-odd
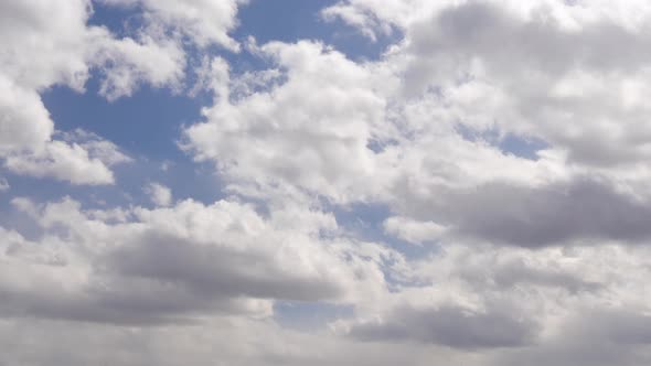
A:
<svg viewBox="0 0 651 366">
<path fill-rule="evenodd" d="M 415 25 L 410 34 L 410 46 L 420 55 L 478 55 L 505 74 L 525 65 L 555 75 L 577 66 L 630 72 L 651 58 L 645 36 L 605 21 L 565 31 L 543 8 L 526 21 L 497 6 L 467 2 Z"/>
</svg>

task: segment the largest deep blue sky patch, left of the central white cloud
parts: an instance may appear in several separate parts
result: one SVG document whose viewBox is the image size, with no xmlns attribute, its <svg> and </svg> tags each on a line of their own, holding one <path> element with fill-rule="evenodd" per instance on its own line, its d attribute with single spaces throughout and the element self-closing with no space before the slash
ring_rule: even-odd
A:
<svg viewBox="0 0 651 366">
<path fill-rule="evenodd" d="M 82 128 L 94 132 L 116 143 L 134 159 L 131 163 L 113 166 L 117 184 L 71 190 L 65 183 L 52 180 L 39 184 L 29 177 L 8 176 L 10 182 L 20 181 L 19 186 L 39 191 L 39 198 L 68 194 L 88 204 L 105 201 L 145 205 L 148 197 L 142 186 L 149 182 L 170 186 L 174 196 L 181 198 L 211 203 L 222 196 L 214 169 L 192 161 L 178 147 L 182 127 L 201 119 L 202 100 L 143 87 L 129 98 L 107 101 L 96 93 L 96 78 L 89 80 L 87 89 L 78 94 L 55 87 L 42 97 L 57 129 Z M 18 194 L 13 186 L 12 194 Z"/>
</svg>

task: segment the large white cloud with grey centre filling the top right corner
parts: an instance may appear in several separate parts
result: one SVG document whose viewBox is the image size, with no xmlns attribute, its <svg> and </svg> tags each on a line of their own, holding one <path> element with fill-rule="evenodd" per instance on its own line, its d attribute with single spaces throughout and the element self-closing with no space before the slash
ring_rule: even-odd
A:
<svg viewBox="0 0 651 366">
<path fill-rule="evenodd" d="M 355 0 L 330 10 L 357 14 L 364 30 L 365 19 L 398 26 L 404 39 L 385 60 L 404 93 L 438 90 L 459 123 L 535 137 L 593 168 L 649 157 L 638 98 L 649 77 L 647 4 Z"/>
</svg>

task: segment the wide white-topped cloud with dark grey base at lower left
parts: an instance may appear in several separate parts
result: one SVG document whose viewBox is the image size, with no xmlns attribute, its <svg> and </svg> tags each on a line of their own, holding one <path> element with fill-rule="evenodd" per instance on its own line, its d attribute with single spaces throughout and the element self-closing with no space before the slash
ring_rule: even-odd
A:
<svg viewBox="0 0 651 366">
<path fill-rule="evenodd" d="M 182 201 L 116 216 L 70 198 L 13 202 L 46 234 L 30 241 L 2 232 L 6 317 L 146 325 L 220 313 L 268 316 L 275 299 L 349 303 L 385 287 L 381 247 L 321 238 L 329 227 L 320 220 L 284 224 L 287 215 L 300 215 L 296 223 L 318 213 L 266 219 L 233 201 Z"/>
</svg>

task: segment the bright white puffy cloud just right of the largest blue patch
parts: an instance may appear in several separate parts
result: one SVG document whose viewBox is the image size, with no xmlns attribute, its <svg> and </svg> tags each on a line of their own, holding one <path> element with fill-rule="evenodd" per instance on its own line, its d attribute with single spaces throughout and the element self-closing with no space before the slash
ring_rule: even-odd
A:
<svg viewBox="0 0 651 366">
<path fill-rule="evenodd" d="M 185 130 L 185 148 L 216 161 L 235 184 L 298 186 L 342 201 L 361 195 L 356 183 L 378 173 L 369 143 L 386 138 L 381 80 L 320 43 L 269 43 L 255 52 L 277 69 L 247 74 L 231 90 L 227 66 L 213 62 L 217 100 L 204 110 L 205 122 Z M 252 76 L 262 85 L 246 87 Z"/>
</svg>

